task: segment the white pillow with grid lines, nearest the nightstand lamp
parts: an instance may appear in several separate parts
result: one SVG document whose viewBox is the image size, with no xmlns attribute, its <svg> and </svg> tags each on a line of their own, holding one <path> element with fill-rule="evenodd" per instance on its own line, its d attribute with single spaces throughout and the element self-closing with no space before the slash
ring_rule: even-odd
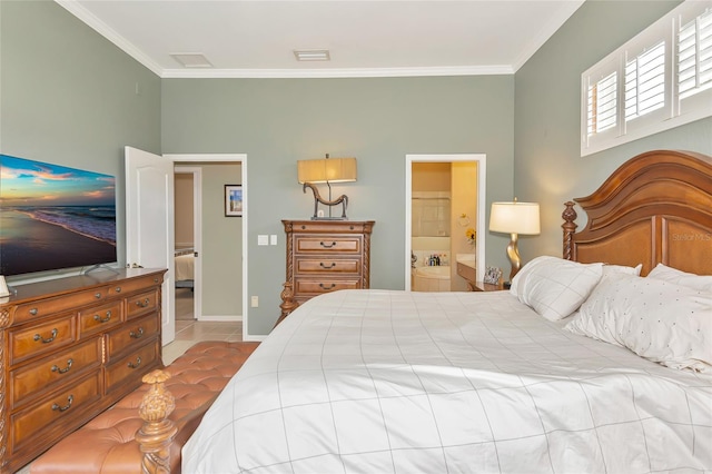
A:
<svg viewBox="0 0 712 474">
<path fill-rule="evenodd" d="M 602 267 L 603 264 L 537 257 L 514 276 L 510 292 L 546 319 L 563 319 L 589 297 L 601 279 Z"/>
</svg>

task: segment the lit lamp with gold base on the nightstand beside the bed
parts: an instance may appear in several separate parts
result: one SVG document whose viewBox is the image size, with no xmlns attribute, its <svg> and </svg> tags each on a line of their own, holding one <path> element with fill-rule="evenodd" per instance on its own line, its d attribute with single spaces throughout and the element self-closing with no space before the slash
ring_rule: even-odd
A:
<svg viewBox="0 0 712 474">
<path fill-rule="evenodd" d="M 508 287 L 522 267 L 522 258 L 517 247 L 518 235 L 538 235 L 541 231 L 538 203 L 518 203 L 516 198 L 513 203 L 492 203 L 490 230 L 511 236 L 507 257 L 512 264 L 512 271 L 510 273 L 510 282 L 505 284 L 505 287 Z"/>
</svg>

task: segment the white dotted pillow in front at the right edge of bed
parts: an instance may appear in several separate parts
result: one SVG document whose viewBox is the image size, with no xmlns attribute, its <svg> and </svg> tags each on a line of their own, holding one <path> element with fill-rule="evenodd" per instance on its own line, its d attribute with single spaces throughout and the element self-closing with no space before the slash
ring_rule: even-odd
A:
<svg viewBox="0 0 712 474">
<path fill-rule="evenodd" d="M 565 328 L 672 368 L 712 372 L 712 296 L 669 282 L 610 275 Z"/>
</svg>

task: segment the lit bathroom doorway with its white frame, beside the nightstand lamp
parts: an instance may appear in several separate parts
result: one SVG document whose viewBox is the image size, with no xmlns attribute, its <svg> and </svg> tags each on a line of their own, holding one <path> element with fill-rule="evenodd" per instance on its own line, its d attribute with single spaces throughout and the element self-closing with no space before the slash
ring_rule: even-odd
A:
<svg viewBox="0 0 712 474">
<path fill-rule="evenodd" d="M 406 290 L 464 292 L 457 263 L 484 268 L 486 157 L 406 155 Z"/>
</svg>

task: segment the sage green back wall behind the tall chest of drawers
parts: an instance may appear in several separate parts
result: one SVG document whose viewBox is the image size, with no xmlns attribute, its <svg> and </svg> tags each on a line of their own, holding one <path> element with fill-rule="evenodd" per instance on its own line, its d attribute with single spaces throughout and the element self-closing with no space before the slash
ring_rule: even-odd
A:
<svg viewBox="0 0 712 474">
<path fill-rule="evenodd" d="M 366 79 L 167 79 L 162 151 L 247 154 L 250 335 L 279 315 L 285 279 L 281 219 L 308 219 L 313 197 L 297 184 L 297 160 L 355 156 L 358 181 L 334 185 L 352 220 L 376 221 L 370 286 L 403 289 L 405 156 L 487 155 L 487 201 L 513 190 L 514 77 Z M 326 195 L 326 189 L 323 190 Z M 277 246 L 257 246 L 276 234 Z M 494 237 L 493 237 L 494 239 Z M 487 264 L 504 266 L 487 237 Z"/>
</svg>

